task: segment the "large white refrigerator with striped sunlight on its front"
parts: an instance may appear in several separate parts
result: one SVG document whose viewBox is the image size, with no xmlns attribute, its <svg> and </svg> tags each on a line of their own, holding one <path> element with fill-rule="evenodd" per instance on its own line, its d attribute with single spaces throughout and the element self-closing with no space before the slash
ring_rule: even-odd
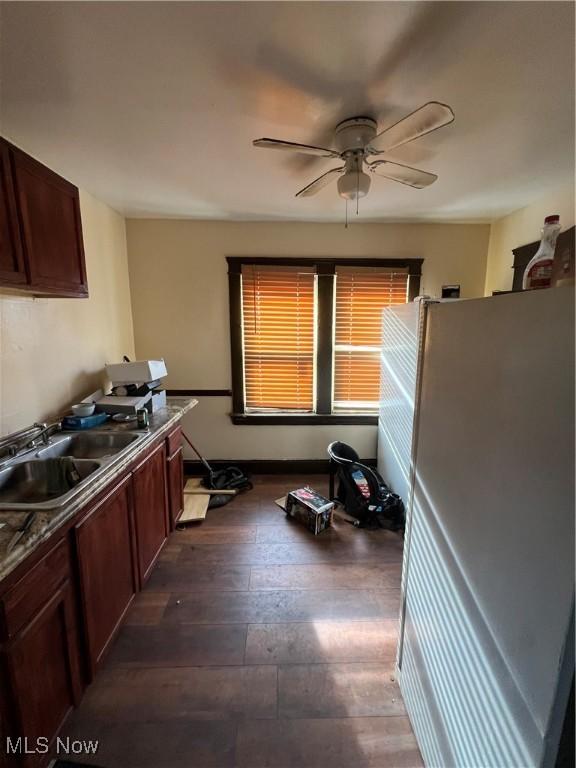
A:
<svg viewBox="0 0 576 768">
<path fill-rule="evenodd" d="M 427 766 L 553 766 L 574 675 L 574 293 L 384 312 L 398 677 Z"/>
</svg>

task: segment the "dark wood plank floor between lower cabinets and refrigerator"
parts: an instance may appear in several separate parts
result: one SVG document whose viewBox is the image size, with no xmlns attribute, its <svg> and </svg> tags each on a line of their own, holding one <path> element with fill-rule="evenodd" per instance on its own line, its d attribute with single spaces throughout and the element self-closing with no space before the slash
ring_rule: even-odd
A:
<svg viewBox="0 0 576 768">
<path fill-rule="evenodd" d="M 401 539 L 312 536 L 262 476 L 174 533 L 65 728 L 104 768 L 416 768 L 395 681 Z M 84 758 L 83 758 L 84 759 Z"/>
</svg>

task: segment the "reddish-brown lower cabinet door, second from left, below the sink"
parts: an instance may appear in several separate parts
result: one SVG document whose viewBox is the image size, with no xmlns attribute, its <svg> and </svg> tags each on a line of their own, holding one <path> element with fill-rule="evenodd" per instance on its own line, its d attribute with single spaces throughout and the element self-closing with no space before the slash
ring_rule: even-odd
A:
<svg viewBox="0 0 576 768">
<path fill-rule="evenodd" d="M 90 675 L 136 593 L 130 479 L 76 526 L 80 590 Z"/>
</svg>

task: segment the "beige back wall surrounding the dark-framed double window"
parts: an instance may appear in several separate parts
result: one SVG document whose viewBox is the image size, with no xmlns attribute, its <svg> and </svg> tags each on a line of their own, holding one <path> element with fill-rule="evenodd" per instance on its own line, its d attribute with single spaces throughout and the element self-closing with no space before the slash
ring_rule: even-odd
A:
<svg viewBox="0 0 576 768">
<path fill-rule="evenodd" d="M 127 222 L 137 356 L 164 357 L 172 388 L 230 387 L 226 256 L 424 258 L 422 291 L 484 291 L 488 225 Z M 374 427 L 234 426 L 228 398 L 203 398 L 185 428 L 209 458 L 325 458 L 330 440 L 376 455 Z"/>
</svg>

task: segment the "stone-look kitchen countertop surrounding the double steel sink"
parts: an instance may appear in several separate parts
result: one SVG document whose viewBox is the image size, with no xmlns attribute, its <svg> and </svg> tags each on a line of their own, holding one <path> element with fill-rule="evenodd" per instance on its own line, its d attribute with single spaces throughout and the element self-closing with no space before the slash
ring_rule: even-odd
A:
<svg viewBox="0 0 576 768">
<path fill-rule="evenodd" d="M 136 445 L 129 446 L 108 466 L 104 467 L 94 482 L 89 482 L 86 488 L 74 497 L 64 507 L 53 510 L 42 510 L 36 515 L 29 532 L 24 536 L 12 552 L 7 554 L 6 549 L 12 536 L 19 529 L 30 510 L 3 511 L 0 512 L 0 580 L 4 579 L 17 566 L 20 565 L 37 547 L 46 541 L 52 534 L 62 527 L 68 520 L 94 499 L 107 485 L 120 477 L 126 469 L 142 453 L 145 453 L 152 442 L 160 435 L 170 431 L 182 416 L 198 405 L 198 400 L 192 397 L 168 397 L 165 408 L 150 414 L 149 427 L 146 430 L 146 438 L 139 440 Z M 118 424 L 108 422 L 96 427 L 94 431 L 107 432 L 140 432 L 134 422 Z"/>
</svg>

